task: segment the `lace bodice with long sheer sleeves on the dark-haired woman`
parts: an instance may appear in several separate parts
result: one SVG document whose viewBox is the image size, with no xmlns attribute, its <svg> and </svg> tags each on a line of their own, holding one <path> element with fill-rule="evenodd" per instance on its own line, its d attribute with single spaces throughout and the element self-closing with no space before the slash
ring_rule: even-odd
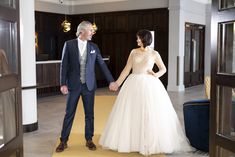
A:
<svg viewBox="0 0 235 157">
<path fill-rule="evenodd" d="M 148 71 L 153 69 L 154 64 L 157 64 L 159 68 L 158 74 L 160 74 L 160 77 L 165 73 L 166 68 L 159 53 L 150 48 L 148 51 L 144 52 L 139 48 L 133 49 L 129 55 L 125 68 L 117 80 L 118 85 L 122 84 L 131 69 L 133 74 L 148 74 Z"/>
</svg>

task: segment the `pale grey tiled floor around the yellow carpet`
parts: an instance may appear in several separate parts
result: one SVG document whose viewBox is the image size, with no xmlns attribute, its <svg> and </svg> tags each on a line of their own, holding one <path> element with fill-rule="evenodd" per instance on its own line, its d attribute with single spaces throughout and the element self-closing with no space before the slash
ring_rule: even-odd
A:
<svg viewBox="0 0 235 157">
<path fill-rule="evenodd" d="M 184 92 L 168 92 L 174 108 L 183 124 L 183 107 L 185 101 L 204 98 L 203 86 L 195 86 Z M 115 95 L 107 88 L 97 89 L 96 95 Z M 24 157 L 51 157 L 56 140 L 61 131 L 66 97 L 62 95 L 38 99 L 39 129 L 24 134 Z M 187 153 L 167 155 L 169 157 L 207 157 L 206 154 Z"/>
</svg>

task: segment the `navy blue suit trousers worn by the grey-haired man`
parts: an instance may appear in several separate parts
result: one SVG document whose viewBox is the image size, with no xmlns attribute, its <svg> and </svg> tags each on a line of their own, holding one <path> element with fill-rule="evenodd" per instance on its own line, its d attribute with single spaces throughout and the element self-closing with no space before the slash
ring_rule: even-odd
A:
<svg viewBox="0 0 235 157">
<path fill-rule="evenodd" d="M 94 135 L 94 97 L 95 90 L 89 91 L 86 83 L 82 84 L 80 89 L 70 90 L 67 95 L 66 113 L 60 140 L 67 142 L 71 132 L 77 104 L 80 96 L 82 97 L 85 113 L 85 139 L 92 140 Z"/>
</svg>

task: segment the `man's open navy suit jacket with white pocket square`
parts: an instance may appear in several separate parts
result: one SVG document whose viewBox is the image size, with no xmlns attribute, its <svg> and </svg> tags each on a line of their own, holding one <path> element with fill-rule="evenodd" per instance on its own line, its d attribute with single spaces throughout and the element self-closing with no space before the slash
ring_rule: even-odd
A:
<svg viewBox="0 0 235 157">
<path fill-rule="evenodd" d="M 80 81 L 80 52 L 78 40 L 66 41 L 63 47 L 62 62 L 60 66 L 60 85 L 67 85 L 69 90 L 79 89 Z M 86 85 L 88 90 L 96 89 L 95 66 L 100 67 L 108 83 L 114 79 L 100 54 L 100 50 L 93 42 L 87 42 Z"/>
</svg>

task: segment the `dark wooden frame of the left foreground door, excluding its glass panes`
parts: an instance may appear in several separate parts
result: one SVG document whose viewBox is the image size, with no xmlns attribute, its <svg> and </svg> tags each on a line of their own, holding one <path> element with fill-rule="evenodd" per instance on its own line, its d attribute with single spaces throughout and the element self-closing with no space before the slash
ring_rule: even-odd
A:
<svg viewBox="0 0 235 157">
<path fill-rule="evenodd" d="M 8 157 L 16 154 L 23 157 L 23 126 L 22 126 L 22 101 L 21 101 L 21 64 L 20 64 L 20 18 L 19 0 L 15 0 L 15 8 L 0 5 L 0 20 L 16 23 L 16 49 L 17 49 L 17 74 L 12 73 L 0 78 L 0 92 L 15 89 L 16 98 L 16 137 L 0 148 L 0 156 Z"/>
</svg>

